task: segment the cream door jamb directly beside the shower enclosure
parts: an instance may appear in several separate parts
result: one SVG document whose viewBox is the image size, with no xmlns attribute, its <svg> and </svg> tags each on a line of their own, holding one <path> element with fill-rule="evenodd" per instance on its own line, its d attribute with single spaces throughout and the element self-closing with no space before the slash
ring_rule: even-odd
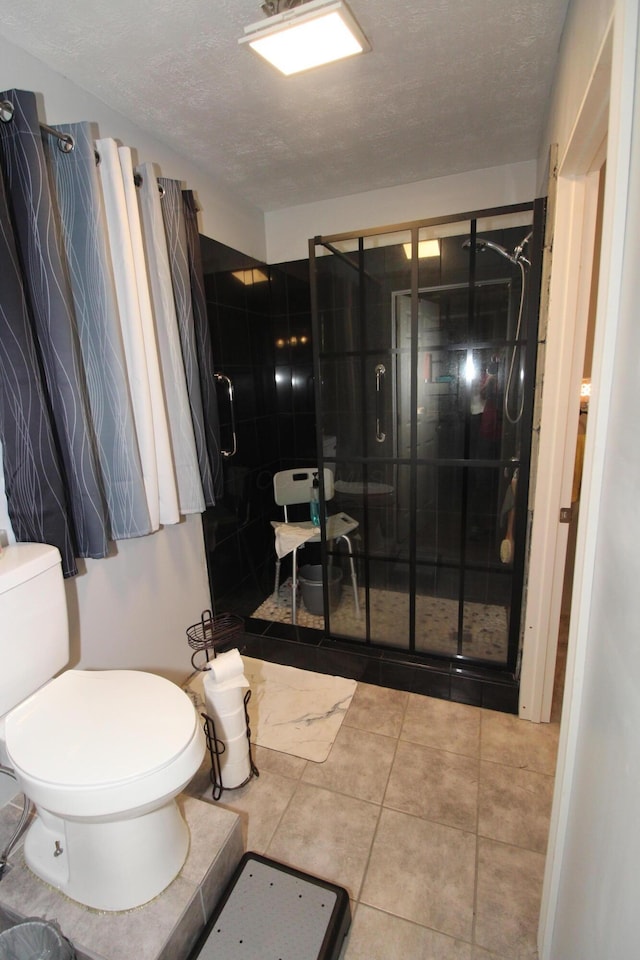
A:
<svg viewBox="0 0 640 960">
<path fill-rule="evenodd" d="M 553 698 L 569 535 L 569 525 L 560 522 L 560 510 L 571 506 L 612 45 L 610 23 L 573 136 L 558 163 L 553 237 L 547 241 L 553 249 L 553 269 L 519 698 L 519 716 L 535 723 L 549 721 Z"/>
</svg>

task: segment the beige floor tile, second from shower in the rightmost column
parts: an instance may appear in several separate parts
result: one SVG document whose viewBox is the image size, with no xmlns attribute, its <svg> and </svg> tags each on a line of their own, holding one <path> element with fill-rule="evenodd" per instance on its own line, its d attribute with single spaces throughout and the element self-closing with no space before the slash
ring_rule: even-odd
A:
<svg viewBox="0 0 640 960">
<path fill-rule="evenodd" d="M 481 761 L 478 834 L 545 853 L 552 799 L 546 773 Z"/>
</svg>

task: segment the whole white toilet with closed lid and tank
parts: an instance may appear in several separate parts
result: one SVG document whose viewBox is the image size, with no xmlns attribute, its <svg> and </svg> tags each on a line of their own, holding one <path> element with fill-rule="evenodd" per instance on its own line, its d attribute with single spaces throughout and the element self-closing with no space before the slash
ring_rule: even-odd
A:
<svg viewBox="0 0 640 960">
<path fill-rule="evenodd" d="M 72 900 L 130 910 L 180 872 L 189 829 L 176 796 L 204 733 L 176 684 L 137 670 L 64 670 L 60 555 L 21 543 L 0 557 L 0 763 L 37 815 L 27 866 Z M 56 676 L 56 674 L 58 674 Z"/>
</svg>

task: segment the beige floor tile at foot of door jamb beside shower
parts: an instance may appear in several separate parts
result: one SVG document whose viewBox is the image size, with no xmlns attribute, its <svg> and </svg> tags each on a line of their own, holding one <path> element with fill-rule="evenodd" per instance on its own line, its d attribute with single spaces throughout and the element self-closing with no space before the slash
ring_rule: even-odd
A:
<svg viewBox="0 0 640 960">
<path fill-rule="evenodd" d="M 508 713 L 482 710 L 480 757 L 553 776 L 559 730 L 557 723 L 530 723 Z"/>
</svg>

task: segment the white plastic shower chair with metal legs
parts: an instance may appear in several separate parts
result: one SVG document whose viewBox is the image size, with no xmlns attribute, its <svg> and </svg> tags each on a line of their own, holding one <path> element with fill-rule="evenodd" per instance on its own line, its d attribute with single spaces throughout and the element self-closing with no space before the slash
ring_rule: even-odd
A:
<svg viewBox="0 0 640 960">
<path fill-rule="evenodd" d="M 305 530 L 316 531 L 314 536 L 305 540 L 304 543 L 319 543 L 322 539 L 320 527 L 315 527 L 311 520 L 289 521 L 287 507 L 298 503 L 309 503 L 311 499 L 311 487 L 314 475 L 318 473 L 317 467 L 299 467 L 295 470 L 281 470 L 273 477 L 273 494 L 278 506 L 284 508 L 284 522 L 291 527 L 303 528 Z M 329 467 L 323 470 L 324 478 L 324 499 L 325 503 L 333 499 L 334 484 L 333 471 Z M 321 505 L 322 506 L 322 505 Z M 327 517 L 325 526 L 325 536 L 328 541 L 343 540 L 347 545 L 349 554 L 349 565 L 351 567 L 351 584 L 353 586 L 353 606 L 356 617 L 360 616 L 360 603 L 358 599 L 358 580 L 356 578 L 356 568 L 353 559 L 353 546 L 349 537 L 350 533 L 358 528 L 358 521 L 354 520 L 346 513 L 337 513 Z M 304 543 L 300 546 L 304 546 Z M 296 547 L 292 553 L 292 575 L 291 575 L 291 622 L 297 622 L 297 587 L 298 587 L 298 564 L 297 553 L 300 547 Z M 276 554 L 276 579 L 273 589 L 273 596 L 277 598 L 280 589 L 280 557 Z"/>
</svg>

